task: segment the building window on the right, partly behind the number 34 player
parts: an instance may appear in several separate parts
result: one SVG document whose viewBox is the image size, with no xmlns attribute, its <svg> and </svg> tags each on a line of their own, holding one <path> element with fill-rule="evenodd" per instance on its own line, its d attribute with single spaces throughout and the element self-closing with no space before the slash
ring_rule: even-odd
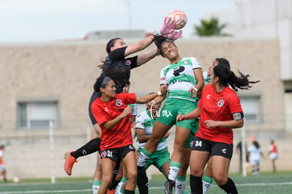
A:
<svg viewBox="0 0 292 194">
<path fill-rule="evenodd" d="M 241 107 L 247 123 L 259 123 L 260 97 L 240 97 Z"/>
</svg>

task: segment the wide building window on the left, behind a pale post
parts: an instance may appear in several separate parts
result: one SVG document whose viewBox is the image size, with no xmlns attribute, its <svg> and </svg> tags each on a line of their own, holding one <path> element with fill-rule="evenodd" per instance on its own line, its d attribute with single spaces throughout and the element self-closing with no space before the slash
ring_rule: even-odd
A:
<svg viewBox="0 0 292 194">
<path fill-rule="evenodd" d="M 18 102 L 18 128 L 49 128 L 49 122 L 56 127 L 58 102 Z"/>
</svg>

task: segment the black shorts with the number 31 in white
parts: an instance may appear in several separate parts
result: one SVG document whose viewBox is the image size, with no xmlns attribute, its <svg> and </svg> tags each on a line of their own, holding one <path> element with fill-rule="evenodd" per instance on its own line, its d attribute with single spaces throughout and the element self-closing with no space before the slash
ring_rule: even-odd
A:
<svg viewBox="0 0 292 194">
<path fill-rule="evenodd" d="M 135 147 L 132 144 L 130 144 L 124 147 L 103 150 L 102 153 L 100 154 L 100 157 L 109 158 L 113 160 L 114 162 L 121 162 L 123 158 L 126 157 L 126 154 L 132 151 L 135 151 Z"/>
</svg>

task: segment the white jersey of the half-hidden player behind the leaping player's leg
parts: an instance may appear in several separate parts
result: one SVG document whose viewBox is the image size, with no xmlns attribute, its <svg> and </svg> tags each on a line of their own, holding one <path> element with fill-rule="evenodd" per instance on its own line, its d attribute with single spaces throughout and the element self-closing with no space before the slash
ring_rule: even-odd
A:
<svg viewBox="0 0 292 194">
<path fill-rule="evenodd" d="M 151 135 L 154 122 L 155 120 L 152 119 L 148 110 L 142 111 L 136 118 L 136 128 L 141 128 L 142 130 L 144 130 L 145 135 Z M 143 149 L 145 145 L 146 143 L 139 143 L 138 147 L 141 147 Z M 160 140 L 160 142 L 158 143 L 157 150 L 162 150 L 166 147 L 166 138 L 162 138 L 162 140 Z"/>
</svg>

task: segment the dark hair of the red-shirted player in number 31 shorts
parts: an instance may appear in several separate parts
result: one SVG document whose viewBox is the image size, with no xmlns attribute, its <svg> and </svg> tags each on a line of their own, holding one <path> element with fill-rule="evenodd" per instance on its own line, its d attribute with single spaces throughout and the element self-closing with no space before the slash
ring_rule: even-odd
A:
<svg viewBox="0 0 292 194">
<path fill-rule="evenodd" d="M 125 85 L 126 81 L 124 80 L 124 73 L 121 71 L 116 71 L 114 68 L 110 68 L 108 71 L 102 73 L 102 75 L 97 78 L 95 84 L 93 85 L 93 89 L 95 92 L 99 93 L 99 96 L 102 95 L 100 93 L 100 87 L 105 87 L 109 80 L 114 80 L 116 85 Z"/>
</svg>

